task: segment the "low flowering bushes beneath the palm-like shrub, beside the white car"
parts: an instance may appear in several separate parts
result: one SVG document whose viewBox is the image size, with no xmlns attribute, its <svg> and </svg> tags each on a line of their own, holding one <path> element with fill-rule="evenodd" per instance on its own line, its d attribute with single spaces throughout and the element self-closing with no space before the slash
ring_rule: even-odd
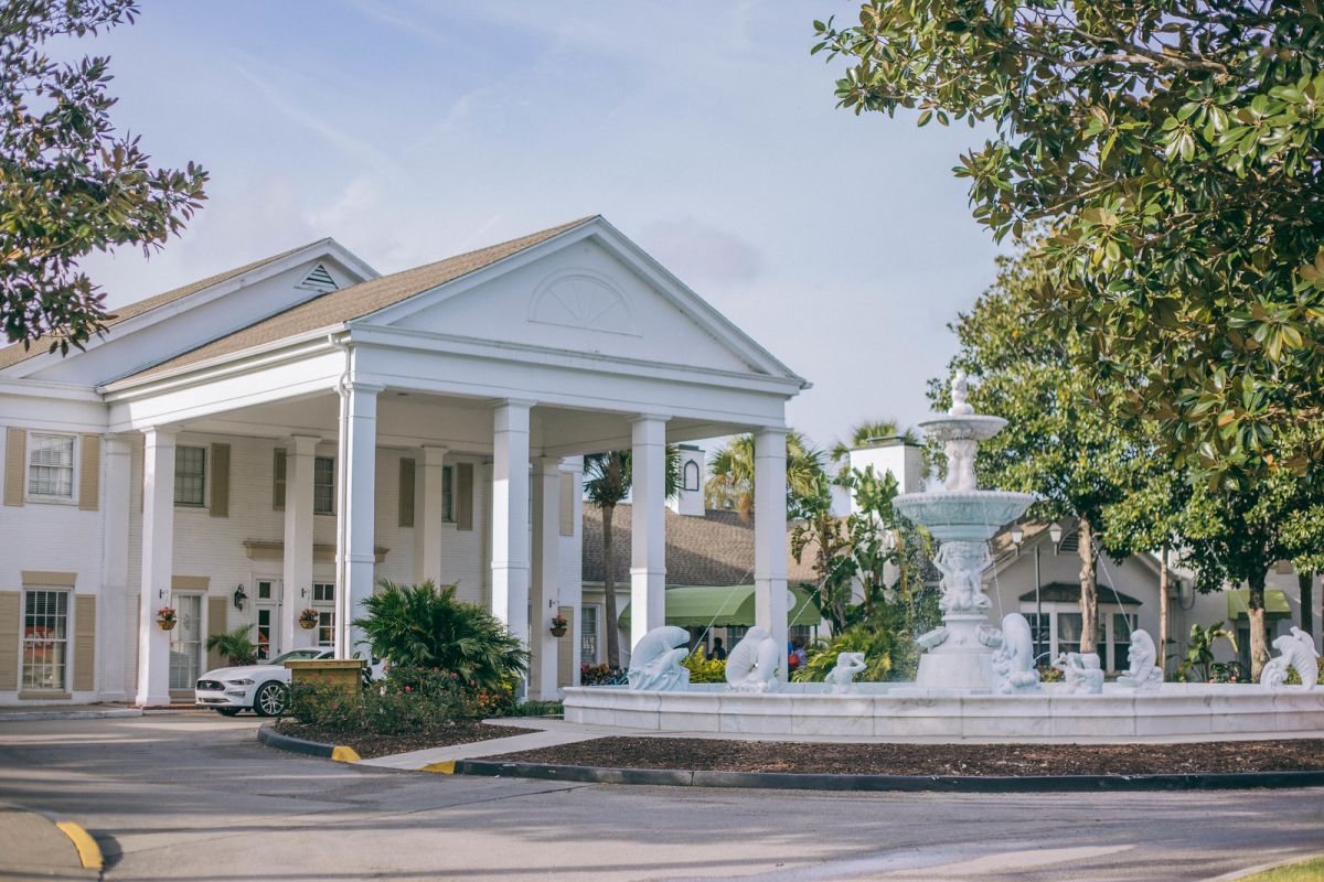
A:
<svg viewBox="0 0 1324 882">
<path fill-rule="evenodd" d="M 286 713 L 301 723 L 331 731 L 401 735 L 437 731 L 514 709 L 508 682 L 483 689 L 453 670 L 395 665 L 385 681 L 364 688 L 357 697 L 326 682 L 295 684 Z"/>
</svg>

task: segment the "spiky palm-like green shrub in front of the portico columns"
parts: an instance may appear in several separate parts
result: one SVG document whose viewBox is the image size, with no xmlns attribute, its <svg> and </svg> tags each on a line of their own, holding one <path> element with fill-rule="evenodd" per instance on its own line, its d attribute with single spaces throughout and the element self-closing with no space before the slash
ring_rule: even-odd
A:
<svg viewBox="0 0 1324 882">
<path fill-rule="evenodd" d="M 487 610 L 455 599 L 455 586 L 437 588 L 379 582 L 367 598 L 361 628 L 372 655 L 405 668 L 455 673 L 478 689 L 500 689 L 528 668 L 528 652 Z"/>
</svg>

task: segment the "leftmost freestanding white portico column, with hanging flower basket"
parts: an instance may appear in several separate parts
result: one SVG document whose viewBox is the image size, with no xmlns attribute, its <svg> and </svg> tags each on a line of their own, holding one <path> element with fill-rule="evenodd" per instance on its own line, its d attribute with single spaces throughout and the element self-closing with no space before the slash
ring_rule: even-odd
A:
<svg viewBox="0 0 1324 882">
<path fill-rule="evenodd" d="M 131 477 L 131 444 L 123 435 L 103 435 L 105 489 L 101 496 L 105 542 L 101 567 L 101 623 L 98 632 L 101 700 L 124 701 L 124 633 L 128 629 L 128 497 Z"/>
</svg>

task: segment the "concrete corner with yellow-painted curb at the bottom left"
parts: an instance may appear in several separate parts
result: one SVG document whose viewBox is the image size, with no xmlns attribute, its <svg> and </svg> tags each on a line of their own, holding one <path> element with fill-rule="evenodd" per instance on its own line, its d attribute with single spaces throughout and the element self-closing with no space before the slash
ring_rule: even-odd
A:
<svg viewBox="0 0 1324 882">
<path fill-rule="evenodd" d="M 97 879 L 101 869 L 101 849 L 83 828 L 0 804 L 0 879 Z"/>
</svg>

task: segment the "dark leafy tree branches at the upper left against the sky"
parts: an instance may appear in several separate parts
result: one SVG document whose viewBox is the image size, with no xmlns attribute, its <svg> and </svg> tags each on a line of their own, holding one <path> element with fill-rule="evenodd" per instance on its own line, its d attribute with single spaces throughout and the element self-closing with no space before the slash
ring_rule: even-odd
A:
<svg viewBox="0 0 1324 882">
<path fill-rule="evenodd" d="M 0 4 L 0 324 L 68 353 L 105 329 L 105 294 L 78 268 L 93 251 L 177 234 L 205 198 L 207 172 L 154 169 L 115 131 L 110 58 L 53 61 L 48 44 L 132 22 L 134 0 Z"/>
</svg>

